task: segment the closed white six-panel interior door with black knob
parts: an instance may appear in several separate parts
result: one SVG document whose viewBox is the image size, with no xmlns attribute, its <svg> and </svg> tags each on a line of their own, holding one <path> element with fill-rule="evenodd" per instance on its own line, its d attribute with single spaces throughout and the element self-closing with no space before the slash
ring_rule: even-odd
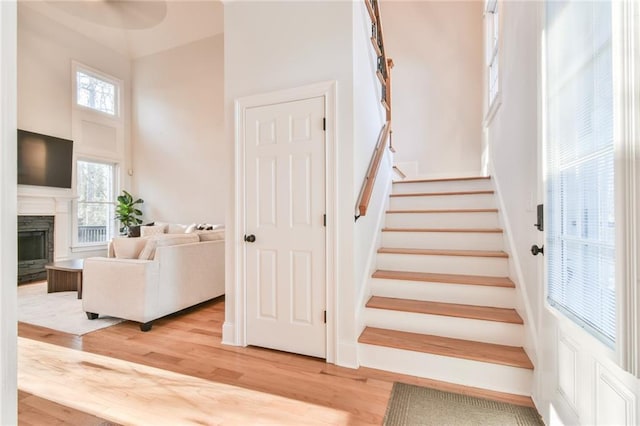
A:
<svg viewBox="0 0 640 426">
<path fill-rule="evenodd" d="M 323 120 L 323 97 L 246 110 L 245 277 L 247 344 L 325 358 Z"/>
</svg>

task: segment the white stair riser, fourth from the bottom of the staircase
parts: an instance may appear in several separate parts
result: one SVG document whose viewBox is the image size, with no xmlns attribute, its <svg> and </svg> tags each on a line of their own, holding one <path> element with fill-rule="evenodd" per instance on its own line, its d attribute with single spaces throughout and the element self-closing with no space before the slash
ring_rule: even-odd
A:
<svg viewBox="0 0 640 426">
<path fill-rule="evenodd" d="M 432 272 L 436 274 L 509 275 L 507 258 L 475 256 L 432 256 L 378 253 L 378 269 L 391 271 Z"/>
</svg>

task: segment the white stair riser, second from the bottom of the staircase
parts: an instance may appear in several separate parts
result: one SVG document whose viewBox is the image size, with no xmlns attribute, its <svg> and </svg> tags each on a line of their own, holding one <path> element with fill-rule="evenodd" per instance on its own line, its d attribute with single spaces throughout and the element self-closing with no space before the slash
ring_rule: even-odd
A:
<svg viewBox="0 0 640 426">
<path fill-rule="evenodd" d="M 498 345 L 522 346 L 524 335 L 522 324 L 387 309 L 366 308 L 364 310 L 364 320 L 369 327 L 431 334 Z"/>
</svg>

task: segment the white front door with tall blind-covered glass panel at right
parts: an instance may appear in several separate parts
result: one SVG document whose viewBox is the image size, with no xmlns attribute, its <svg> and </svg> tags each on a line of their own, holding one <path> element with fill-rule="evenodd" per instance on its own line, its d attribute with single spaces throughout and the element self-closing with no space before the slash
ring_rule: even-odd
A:
<svg viewBox="0 0 640 426">
<path fill-rule="evenodd" d="M 557 415 L 558 424 L 637 424 L 637 380 L 617 362 L 616 269 L 624 260 L 616 248 L 622 224 L 615 196 L 621 112 L 615 7 L 576 0 L 545 8 L 547 308 L 540 383 L 551 423 Z"/>
</svg>

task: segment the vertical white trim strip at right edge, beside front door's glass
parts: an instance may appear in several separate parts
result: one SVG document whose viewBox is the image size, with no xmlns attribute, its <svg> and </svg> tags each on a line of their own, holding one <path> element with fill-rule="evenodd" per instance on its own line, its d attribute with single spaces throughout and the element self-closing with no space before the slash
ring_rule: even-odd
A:
<svg viewBox="0 0 640 426">
<path fill-rule="evenodd" d="M 616 188 L 616 294 L 618 365 L 640 377 L 640 291 L 638 289 L 638 200 L 640 199 L 640 49 L 638 4 L 613 2 L 614 144 Z M 619 78 L 616 78 L 619 77 Z M 617 117 L 617 118 L 616 118 Z"/>
</svg>

